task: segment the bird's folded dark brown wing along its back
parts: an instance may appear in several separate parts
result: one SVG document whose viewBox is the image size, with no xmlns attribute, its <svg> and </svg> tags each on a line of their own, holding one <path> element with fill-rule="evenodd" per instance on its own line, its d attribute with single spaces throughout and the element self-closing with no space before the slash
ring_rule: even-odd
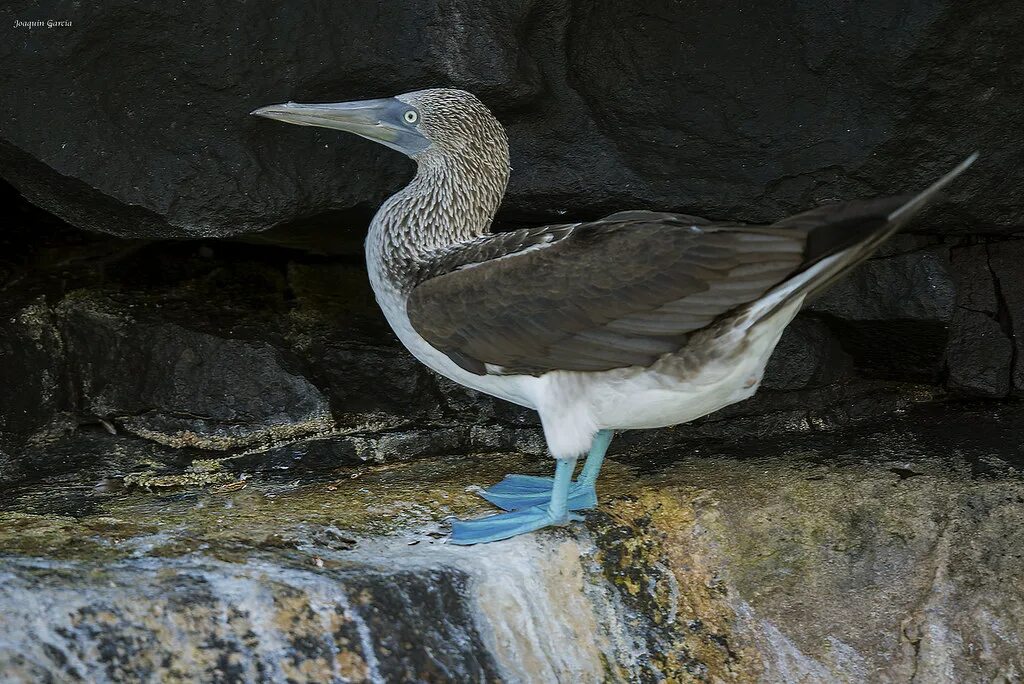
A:
<svg viewBox="0 0 1024 684">
<path fill-rule="evenodd" d="M 425 264 L 408 313 L 427 342 L 480 375 L 649 366 L 876 234 L 904 202 L 820 207 L 773 226 L 634 211 L 486 236 Z"/>
</svg>

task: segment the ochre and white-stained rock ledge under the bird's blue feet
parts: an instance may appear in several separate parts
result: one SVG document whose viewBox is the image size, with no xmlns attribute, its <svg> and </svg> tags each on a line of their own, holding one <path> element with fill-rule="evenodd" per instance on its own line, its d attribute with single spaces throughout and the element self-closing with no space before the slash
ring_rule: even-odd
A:
<svg viewBox="0 0 1024 684">
<path fill-rule="evenodd" d="M 1022 427 L 1019 405 L 932 404 L 621 451 L 586 523 L 473 548 L 443 539 L 446 516 L 488 510 L 467 486 L 546 460 L 244 477 L 226 460 L 225 481 L 161 488 L 117 484 L 112 457 L 0 501 L 0 664 L 15 681 L 1012 681 Z"/>
</svg>

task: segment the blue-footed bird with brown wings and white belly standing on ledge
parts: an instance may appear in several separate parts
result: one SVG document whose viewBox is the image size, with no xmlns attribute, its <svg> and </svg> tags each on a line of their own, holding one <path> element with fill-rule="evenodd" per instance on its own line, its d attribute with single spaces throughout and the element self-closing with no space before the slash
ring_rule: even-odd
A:
<svg viewBox="0 0 1024 684">
<path fill-rule="evenodd" d="M 540 415 L 554 476 L 511 474 L 482 489 L 504 512 L 455 520 L 457 545 L 582 520 L 615 431 L 687 423 L 752 396 L 803 303 L 978 157 L 918 195 L 825 204 L 768 225 L 631 210 L 495 232 L 508 138 L 470 92 L 251 114 L 354 133 L 416 162 L 367 233 L 377 302 L 425 366 Z"/>
</svg>

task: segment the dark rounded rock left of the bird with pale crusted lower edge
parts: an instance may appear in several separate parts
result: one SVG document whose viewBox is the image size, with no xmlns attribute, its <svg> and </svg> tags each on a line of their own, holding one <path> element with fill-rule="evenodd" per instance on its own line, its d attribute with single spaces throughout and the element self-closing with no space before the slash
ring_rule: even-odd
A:
<svg viewBox="0 0 1024 684">
<path fill-rule="evenodd" d="M 57 309 L 83 420 L 172 446 L 237 448 L 334 427 L 330 404 L 264 340 L 214 336 L 104 298 Z"/>
</svg>

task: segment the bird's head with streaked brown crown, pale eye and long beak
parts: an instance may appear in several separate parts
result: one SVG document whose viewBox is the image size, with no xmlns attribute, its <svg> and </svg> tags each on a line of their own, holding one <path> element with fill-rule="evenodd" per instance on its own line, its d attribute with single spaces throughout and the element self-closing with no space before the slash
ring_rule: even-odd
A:
<svg viewBox="0 0 1024 684">
<path fill-rule="evenodd" d="M 419 162 L 474 154 L 508 159 L 502 125 L 483 102 L 465 90 L 431 88 L 355 102 L 285 102 L 261 106 L 252 114 L 355 133 Z"/>
</svg>

